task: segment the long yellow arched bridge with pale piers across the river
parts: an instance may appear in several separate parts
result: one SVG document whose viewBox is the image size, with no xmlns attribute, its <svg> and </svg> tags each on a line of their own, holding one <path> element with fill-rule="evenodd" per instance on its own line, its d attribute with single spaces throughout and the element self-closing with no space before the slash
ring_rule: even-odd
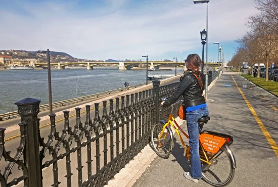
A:
<svg viewBox="0 0 278 187">
<path fill-rule="evenodd" d="M 98 65 L 102 65 L 102 64 L 113 64 L 119 67 L 119 70 L 129 70 L 132 67 L 135 67 L 137 65 L 140 64 L 146 64 L 146 62 L 140 62 L 140 61 L 136 61 L 136 62 L 131 62 L 131 61 L 122 61 L 122 62 L 105 62 L 105 61 L 101 61 L 101 62 L 58 62 L 58 63 L 51 63 L 52 66 L 57 66 L 57 69 L 65 69 L 65 66 L 68 65 L 82 65 L 82 66 L 86 66 L 88 70 L 94 69 L 94 66 L 98 66 Z M 159 70 L 160 66 L 165 66 L 165 65 L 170 65 L 170 64 L 175 64 L 175 62 L 160 62 L 160 61 L 151 61 L 148 62 L 148 67 L 150 67 L 151 69 L 156 69 Z M 177 66 L 180 67 L 185 67 L 184 62 L 177 62 L 176 63 Z M 47 63 L 35 63 L 35 64 L 29 64 L 35 67 L 41 67 L 41 66 L 45 66 L 48 65 Z"/>
</svg>

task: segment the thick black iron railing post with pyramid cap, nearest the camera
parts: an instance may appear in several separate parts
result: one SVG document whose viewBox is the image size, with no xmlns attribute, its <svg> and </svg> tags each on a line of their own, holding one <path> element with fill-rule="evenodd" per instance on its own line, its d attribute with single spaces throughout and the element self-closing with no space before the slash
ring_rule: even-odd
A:
<svg viewBox="0 0 278 187">
<path fill-rule="evenodd" d="M 24 150 L 24 163 L 28 169 L 28 180 L 24 182 L 27 186 L 42 187 L 41 163 L 39 158 L 39 100 L 25 98 L 16 102 L 18 114 L 21 121 L 27 124 L 26 149 Z"/>
</svg>

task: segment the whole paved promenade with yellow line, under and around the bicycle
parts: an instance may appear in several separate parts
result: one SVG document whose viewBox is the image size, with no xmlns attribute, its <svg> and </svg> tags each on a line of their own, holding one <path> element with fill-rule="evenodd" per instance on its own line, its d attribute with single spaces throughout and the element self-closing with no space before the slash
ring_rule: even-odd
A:
<svg viewBox="0 0 278 187">
<path fill-rule="evenodd" d="M 211 120 L 204 130 L 234 136 L 230 148 L 237 168 L 229 186 L 276 186 L 278 99 L 231 72 L 224 72 L 208 93 Z M 179 123 L 186 129 L 184 121 Z M 108 186 L 210 186 L 203 180 L 194 183 L 183 177 L 183 171 L 190 168 L 178 141 L 168 159 L 156 156 L 147 146 Z"/>
</svg>

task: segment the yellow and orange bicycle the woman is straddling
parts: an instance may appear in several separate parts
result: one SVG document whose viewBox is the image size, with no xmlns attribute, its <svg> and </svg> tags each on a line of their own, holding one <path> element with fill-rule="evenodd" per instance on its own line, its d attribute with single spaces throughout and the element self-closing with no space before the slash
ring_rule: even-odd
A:
<svg viewBox="0 0 278 187">
<path fill-rule="evenodd" d="M 153 125 L 151 129 L 151 145 L 158 156 L 165 159 L 168 158 L 173 150 L 175 141 L 171 130 L 172 127 L 182 144 L 180 148 L 184 149 L 183 155 L 190 163 L 190 146 L 184 144 L 179 132 L 187 138 L 189 138 L 189 135 L 177 124 L 175 118 L 171 115 L 172 111 L 173 105 L 171 105 L 168 121 L 160 120 Z M 233 137 L 218 132 L 202 131 L 203 125 L 209 120 L 209 116 L 203 116 L 198 120 L 202 179 L 213 186 L 225 186 L 233 180 L 235 175 L 236 160 L 229 148 L 233 143 Z"/>
</svg>

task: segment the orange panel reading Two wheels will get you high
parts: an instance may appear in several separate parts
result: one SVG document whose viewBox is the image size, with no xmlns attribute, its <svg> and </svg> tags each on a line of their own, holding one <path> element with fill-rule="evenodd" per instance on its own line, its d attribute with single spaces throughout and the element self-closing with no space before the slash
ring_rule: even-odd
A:
<svg viewBox="0 0 278 187">
<path fill-rule="evenodd" d="M 226 142 L 226 139 L 224 137 L 219 137 L 207 133 L 202 133 L 199 136 L 199 139 L 205 151 L 210 153 L 217 153 L 217 151 Z"/>
</svg>

